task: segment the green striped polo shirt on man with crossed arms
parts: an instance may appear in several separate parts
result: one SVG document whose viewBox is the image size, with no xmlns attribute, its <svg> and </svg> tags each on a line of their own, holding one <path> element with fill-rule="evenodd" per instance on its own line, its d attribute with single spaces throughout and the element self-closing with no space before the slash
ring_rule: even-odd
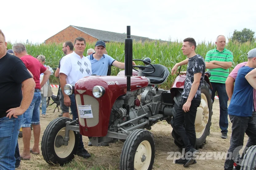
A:
<svg viewBox="0 0 256 170">
<path fill-rule="evenodd" d="M 233 54 L 231 51 L 227 50 L 226 48 L 223 49 L 223 51 L 218 51 L 217 47 L 208 51 L 205 56 L 205 62 L 210 61 L 224 61 L 224 62 L 233 62 Z M 211 73 L 210 82 L 214 83 L 225 83 L 228 75 L 229 75 L 229 69 L 222 69 L 222 68 L 216 68 L 216 69 L 207 69 Z"/>
</svg>

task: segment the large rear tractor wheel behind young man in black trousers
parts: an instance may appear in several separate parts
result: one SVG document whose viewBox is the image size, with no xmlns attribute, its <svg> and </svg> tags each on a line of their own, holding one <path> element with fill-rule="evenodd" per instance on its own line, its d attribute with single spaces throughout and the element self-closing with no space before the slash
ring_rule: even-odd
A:
<svg viewBox="0 0 256 170">
<path fill-rule="evenodd" d="M 177 114 L 177 108 L 180 104 L 180 100 L 182 99 L 182 89 L 178 89 L 177 95 L 174 97 L 174 107 L 172 108 L 173 113 L 173 120 Z M 201 149 L 202 146 L 206 143 L 206 137 L 209 134 L 210 126 L 211 126 L 211 117 L 212 117 L 212 104 L 213 101 L 211 100 L 212 92 L 210 90 L 210 85 L 203 81 L 201 87 L 201 103 L 200 106 L 197 108 L 197 114 L 195 119 L 195 131 L 196 131 L 196 146 L 195 149 Z M 173 120 L 171 122 L 173 122 Z M 172 123 L 171 123 L 172 125 Z M 173 126 L 172 126 L 173 127 Z M 174 131 L 174 130 L 173 130 Z M 172 133 L 172 136 L 175 140 L 175 143 L 179 148 L 183 147 L 184 143 L 181 137 L 175 133 Z"/>
</svg>

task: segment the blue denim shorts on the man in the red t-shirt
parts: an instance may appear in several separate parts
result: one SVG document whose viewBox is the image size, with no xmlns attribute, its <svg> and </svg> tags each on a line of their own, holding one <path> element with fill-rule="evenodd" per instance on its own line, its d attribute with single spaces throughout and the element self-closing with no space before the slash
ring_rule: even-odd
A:
<svg viewBox="0 0 256 170">
<path fill-rule="evenodd" d="M 23 113 L 23 121 L 21 127 L 31 127 L 32 125 L 40 124 L 40 103 L 41 103 L 41 92 L 35 92 L 32 102 L 29 108 Z"/>
</svg>

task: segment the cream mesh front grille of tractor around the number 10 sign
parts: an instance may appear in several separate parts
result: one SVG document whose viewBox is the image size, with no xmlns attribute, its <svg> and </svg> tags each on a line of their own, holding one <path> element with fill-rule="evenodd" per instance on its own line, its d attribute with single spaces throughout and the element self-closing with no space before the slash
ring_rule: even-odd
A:
<svg viewBox="0 0 256 170">
<path fill-rule="evenodd" d="M 93 114 L 93 118 L 86 119 L 86 125 L 87 127 L 94 127 L 99 123 L 99 102 L 94 97 L 89 95 L 83 95 L 83 100 L 85 105 L 91 105 L 92 114 Z M 81 97 L 79 94 L 76 94 L 76 101 L 77 101 L 77 105 L 82 104 Z M 78 114 L 78 117 L 79 117 L 80 124 L 82 126 L 85 126 L 83 118 L 80 118 L 79 114 Z"/>
</svg>

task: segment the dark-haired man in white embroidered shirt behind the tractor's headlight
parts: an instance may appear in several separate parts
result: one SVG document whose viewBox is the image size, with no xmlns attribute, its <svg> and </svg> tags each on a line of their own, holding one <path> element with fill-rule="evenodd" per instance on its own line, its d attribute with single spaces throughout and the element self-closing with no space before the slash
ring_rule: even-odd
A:
<svg viewBox="0 0 256 170">
<path fill-rule="evenodd" d="M 74 52 L 64 56 L 60 62 L 60 84 L 64 87 L 66 84 L 73 84 L 81 79 L 82 77 L 90 76 L 92 74 L 90 60 L 83 56 L 86 47 L 86 42 L 83 37 L 77 37 L 74 41 Z M 64 93 L 64 104 L 70 107 L 73 120 L 78 118 L 77 109 L 75 104 L 74 94 L 68 96 Z M 91 155 L 84 149 L 82 141 L 82 135 L 79 135 L 79 145 L 77 155 L 83 158 L 91 157 Z"/>
</svg>

